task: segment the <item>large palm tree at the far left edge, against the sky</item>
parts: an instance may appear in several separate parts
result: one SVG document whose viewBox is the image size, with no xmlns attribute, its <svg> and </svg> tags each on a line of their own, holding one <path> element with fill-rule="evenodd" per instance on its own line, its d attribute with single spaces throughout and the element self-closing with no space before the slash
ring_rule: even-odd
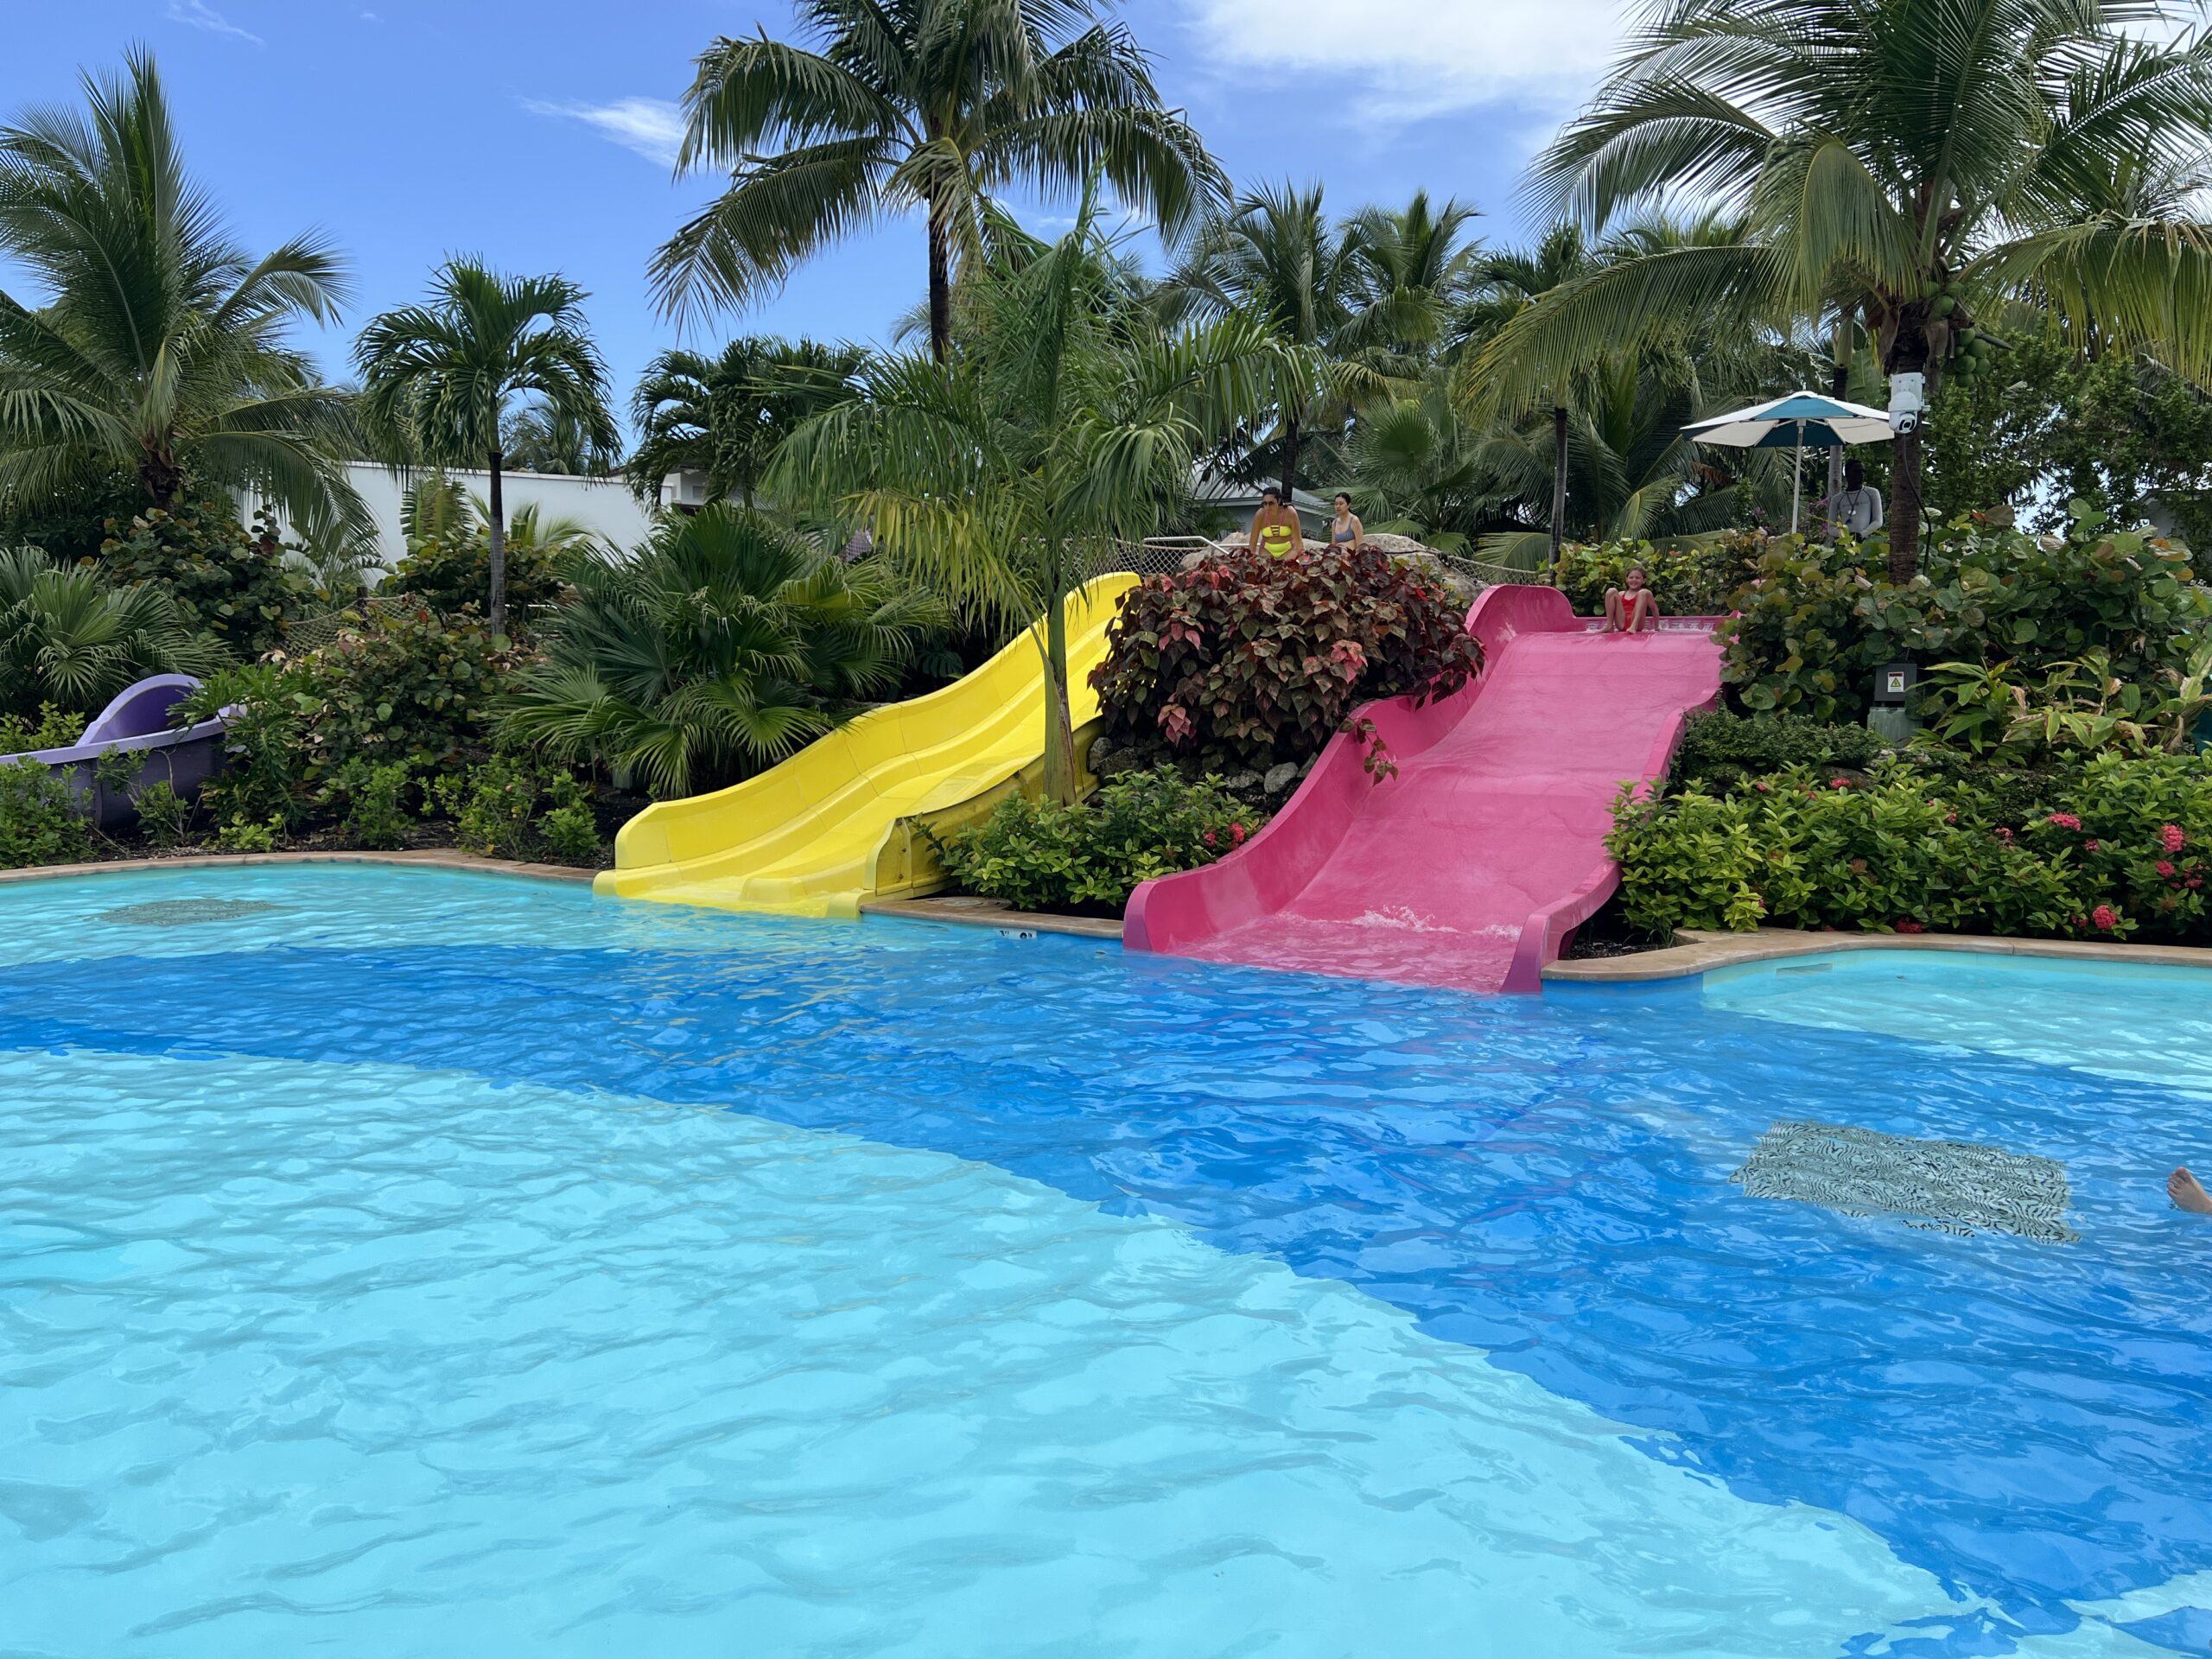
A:
<svg viewBox="0 0 2212 1659">
<path fill-rule="evenodd" d="M 84 111 L 0 126 L 0 254 L 46 288 L 0 292 L 0 495 L 135 478 L 259 493 L 296 524 L 365 524 L 345 482 L 345 394 L 285 343 L 330 323 L 338 254 L 294 237 L 252 259 L 184 170 L 153 58 L 86 75 Z"/>
</svg>

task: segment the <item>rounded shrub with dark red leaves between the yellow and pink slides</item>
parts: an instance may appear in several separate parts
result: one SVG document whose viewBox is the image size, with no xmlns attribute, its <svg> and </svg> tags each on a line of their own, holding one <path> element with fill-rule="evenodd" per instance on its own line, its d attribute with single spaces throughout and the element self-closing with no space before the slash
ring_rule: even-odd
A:
<svg viewBox="0 0 2212 1659">
<path fill-rule="evenodd" d="M 1460 608 L 1374 549 L 1230 551 L 1121 602 L 1091 679 L 1108 737 L 1161 761 L 1305 761 L 1378 697 L 1449 697 L 1482 668 Z"/>
</svg>

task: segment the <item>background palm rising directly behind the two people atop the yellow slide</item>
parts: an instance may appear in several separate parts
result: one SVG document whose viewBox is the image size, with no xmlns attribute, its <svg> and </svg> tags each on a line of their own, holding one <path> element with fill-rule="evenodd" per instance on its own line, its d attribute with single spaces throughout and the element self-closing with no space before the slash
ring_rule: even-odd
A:
<svg viewBox="0 0 2212 1659">
<path fill-rule="evenodd" d="M 1352 323 L 1358 274 L 1345 237 L 1321 208 L 1318 184 L 1261 186 L 1197 226 L 1161 299 L 1170 314 L 1259 316 L 1318 365 Z M 1360 383 L 1378 389 L 1371 376 Z M 1298 487 L 1298 451 L 1329 389 L 1318 378 L 1283 387 L 1276 442 L 1285 502 Z"/>
</svg>

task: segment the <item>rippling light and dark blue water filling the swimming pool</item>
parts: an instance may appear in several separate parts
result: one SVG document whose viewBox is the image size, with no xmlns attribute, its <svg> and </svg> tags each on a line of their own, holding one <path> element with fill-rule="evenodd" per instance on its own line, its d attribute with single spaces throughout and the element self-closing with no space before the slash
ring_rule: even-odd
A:
<svg viewBox="0 0 2212 1659">
<path fill-rule="evenodd" d="M 7 887 L 0 1655 L 2203 1652 L 2197 987 Z M 1783 1117 L 2081 1237 L 1743 1197 Z"/>
</svg>

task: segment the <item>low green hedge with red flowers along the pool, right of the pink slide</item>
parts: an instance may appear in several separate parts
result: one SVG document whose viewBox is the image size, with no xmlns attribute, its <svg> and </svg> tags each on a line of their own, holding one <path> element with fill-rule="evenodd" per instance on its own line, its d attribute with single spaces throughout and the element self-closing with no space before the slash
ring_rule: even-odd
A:
<svg viewBox="0 0 2212 1659">
<path fill-rule="evenodd" d="M 1728 794 L 1624 790 L 1608 849 L 1630 927 L 2212 938 L 2212 765 L 2101 754 L 1991 790 L 1885 763 L 1794 768 Z"/>
</svg>

